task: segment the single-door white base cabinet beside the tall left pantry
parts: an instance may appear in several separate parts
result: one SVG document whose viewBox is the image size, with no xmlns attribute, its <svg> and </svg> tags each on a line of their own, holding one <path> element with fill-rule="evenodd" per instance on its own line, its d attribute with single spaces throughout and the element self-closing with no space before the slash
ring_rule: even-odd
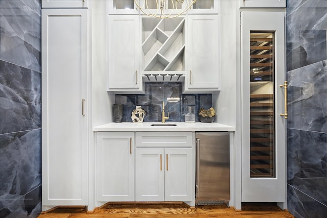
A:
<svg viewBox="0 0 327 218">
<path fill-rule="evenodd" d="M 99 132 L 96 200 L 135 201 L 134 132 Z"/>
</svg>

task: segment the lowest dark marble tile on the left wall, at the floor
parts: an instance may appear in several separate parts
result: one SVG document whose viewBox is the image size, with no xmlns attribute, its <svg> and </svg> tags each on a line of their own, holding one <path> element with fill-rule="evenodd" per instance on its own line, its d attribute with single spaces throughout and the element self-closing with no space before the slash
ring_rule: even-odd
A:
<svg viewBox="0 0 327 218">
<path fill-rule="evenodd" d="M 41 185 L 0 209 L 2 218 L 36 218 L 41 213 Z"/>
</svg>

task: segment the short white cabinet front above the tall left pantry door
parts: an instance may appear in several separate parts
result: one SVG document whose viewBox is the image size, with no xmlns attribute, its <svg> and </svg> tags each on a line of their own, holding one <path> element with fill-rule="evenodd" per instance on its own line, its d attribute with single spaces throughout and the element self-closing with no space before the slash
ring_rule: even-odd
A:
<svg viewBox="0 0 327 218">
<path fill-rule="evenodd" d="M 42 8 L 87 8 L 89 0 L 42 0 Z"/>
</svg>

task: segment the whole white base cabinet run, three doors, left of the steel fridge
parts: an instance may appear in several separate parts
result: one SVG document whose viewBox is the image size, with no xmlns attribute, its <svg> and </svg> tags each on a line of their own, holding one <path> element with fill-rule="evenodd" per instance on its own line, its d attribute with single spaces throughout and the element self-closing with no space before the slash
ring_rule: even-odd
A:
<svg viewBox="0 0 327 218">
<path fill-rule="evenodd" d="M 192 132 L 97 132 L 97 204 L 183 201 L 194 206 L 193 138 Z"/>
</svg>

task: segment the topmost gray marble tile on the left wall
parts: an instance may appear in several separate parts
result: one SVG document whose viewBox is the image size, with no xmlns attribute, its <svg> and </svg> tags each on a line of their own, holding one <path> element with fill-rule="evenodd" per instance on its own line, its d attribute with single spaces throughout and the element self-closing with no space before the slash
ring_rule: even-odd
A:
<svg viewBox="0 0 327 218">
<path fill-rule="evenodd" d="M 0 1 L 0 60 L 41 71 L 40 0 Z"/>
</svg>

